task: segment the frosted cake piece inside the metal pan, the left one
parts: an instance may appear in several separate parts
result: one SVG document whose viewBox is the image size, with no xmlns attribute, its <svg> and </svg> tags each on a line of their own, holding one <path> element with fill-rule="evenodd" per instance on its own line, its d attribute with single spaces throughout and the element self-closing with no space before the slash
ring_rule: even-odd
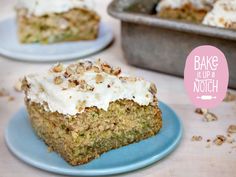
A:
<svg viewBox="0 0 236 177">
<path fill-rule="evenodd" d="M 161 0 L 156 7 L 159 17 L 201 23 L 216 0 Z"/>
</svg>

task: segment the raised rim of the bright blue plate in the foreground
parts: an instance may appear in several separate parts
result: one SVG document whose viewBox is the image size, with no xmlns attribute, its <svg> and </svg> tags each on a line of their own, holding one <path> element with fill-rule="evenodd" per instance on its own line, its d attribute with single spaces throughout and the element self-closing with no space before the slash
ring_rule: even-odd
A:
<svg viewBox="0 0 236 177">
<path fill-rule="evenodd" d="M 132 164 L 129 164 L 126 166 L 115 167 L 115 168 L 114 167 L 113 168 L 106 168 L 106 169 L 102 169 L 102 170 L 86 170 L 86 169 L 85 170 L 84 169 L 82 169 L 82 170 L 81 169 L 75 169 L 75 170 L 69 169 L 68 170 L 68 169 L 60 169 L 60 167 L 53 167 L 53 166 L 45 165 L 43 163 L 37 163 L 36 161 L 30 159 L 28 156 L 25 156 L 24 154 L 19 152 L 16 148 L 12 147 L 10 145 L 10 140 L 9 140 L 9 129 L 8 129 L 9 124 L 10 124 L 11 120 L 13 120 L 13 118 L 16 117 L 20 111 L 23 111 L 25 109 L 25 107 L 21 107 L 8 121 L 5 131 L 4 131 L 5 143 L 8 147 L 8 149 L 10 150 L 10 152 L 15 157 L 22 160 L 24 163 L 26 163 L 30 166 L 33 166 L 35 168 L 41 169 L 43 171 L 51 172 L 54 174 L 69 175 L 69 176 L 101 176 L 101 175 L 117 175 L 117 174 L 132 172 L 134 170 L 142 169 L 142 168 L 147 167 L 151 164 L 154 164 L 155 162 L 166 157 L 171 152 L 173 152 L 181 142 L 181 139 L 183 136 L 183 124 L 182 124 L 181 119 L 179 118 L 179 116 L 175 113 L 175 111 L 170 106 L 163 103 L 162 101 L 158 101 L 158 102 L 163 104 L 163 106 L 167 107 L 172 112 L 172 114 L 175 115 L 176 119 L 178 120 L 178 124 L 179 124 L 178 135 L 177 135 L 176 139 L 172 142 L 172 144 L 170 146 L 168 146 L 168 148 L 165 148 L 160 154 L 156 154 L 148 159 L 141 160 L 139 162 L 132 163 Z"/>
</svg>

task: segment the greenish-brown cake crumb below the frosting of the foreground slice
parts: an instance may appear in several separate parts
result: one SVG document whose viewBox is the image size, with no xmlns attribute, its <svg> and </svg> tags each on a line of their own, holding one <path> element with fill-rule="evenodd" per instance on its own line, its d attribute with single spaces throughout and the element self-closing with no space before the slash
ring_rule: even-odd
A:
<svg viewBox="0 0 236 177">
<path fill-rule="evenodd" d="M 87 108 L 68 116 L 47 112 L 41 104 L 26 100 L 37 135 L 71 165 L 79 165 L 102 153 L 155 135 L 162 127 L 157 106 L 140 106 L 129 100 L 111 102 L 107 111 Z"/>
</svg>

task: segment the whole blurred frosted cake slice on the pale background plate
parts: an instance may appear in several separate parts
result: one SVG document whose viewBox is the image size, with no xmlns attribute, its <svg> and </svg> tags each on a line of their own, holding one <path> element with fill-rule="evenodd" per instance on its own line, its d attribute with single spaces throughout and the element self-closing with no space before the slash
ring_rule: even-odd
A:
<svg viewBox="0 0 236 177">
<path fill-rule="evenodd" d="M 17 24 L 21 43 L 93 40 L 100 17 L 92 0 L 18 0 Z"/>
</svg>

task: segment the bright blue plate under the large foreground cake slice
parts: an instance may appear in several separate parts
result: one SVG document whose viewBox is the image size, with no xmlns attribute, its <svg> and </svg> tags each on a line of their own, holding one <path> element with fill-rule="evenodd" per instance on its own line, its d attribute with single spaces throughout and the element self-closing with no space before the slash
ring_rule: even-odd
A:
<svg viewBox="0 0 236 177">
<path fill-rule="evenodd" d="M 111 175 L 133 171 L 150 165 L 173 151 L 182 136 L 182 125 L 175 112 L 159 102 L 163 128 L 151 138 L 104 153 L 81 166 L 70 166 L 33 132 L 25 108 L 19 110 L 5 130 L 6 143 L 19 159 L 37 168 L 64 175 Z"/>
</svg>

